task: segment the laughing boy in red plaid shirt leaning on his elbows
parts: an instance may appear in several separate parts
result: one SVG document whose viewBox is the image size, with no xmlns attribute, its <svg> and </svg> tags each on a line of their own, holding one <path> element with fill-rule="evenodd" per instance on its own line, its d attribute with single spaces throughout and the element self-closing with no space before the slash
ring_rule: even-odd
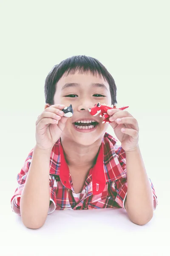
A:
<svg viewBox="0 0 170 256">
<path fill-rule="evenodd" d="M 11 198 L 23 224 L 42 227 L 55 209 L 97 208 L 124 208 L 139 225 L 150 221 L 158 202 L 144 169 L 137 120 L 111 109 L 111 122 L 103 124 L 89 112 L 98 102 L 117 103 L 116 84 L 106 68 L 84 55 L 62 61 L 45 79 L 45 102 L 36 121 L 36 145 Z M 62 111 L 70 105 L 71 118 Z M 106 133 L 108 125 L 121 146 Z"/>
</svg>

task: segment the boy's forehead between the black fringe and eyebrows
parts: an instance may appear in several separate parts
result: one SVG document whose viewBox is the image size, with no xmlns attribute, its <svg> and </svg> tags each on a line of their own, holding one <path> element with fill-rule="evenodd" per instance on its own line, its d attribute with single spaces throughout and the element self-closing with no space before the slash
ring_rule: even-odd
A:
<svg viewBox="0 0 170 256">
<path fill-rule="evenodd" d="M 100 77 L 98 73 L 95 75 L 93 75 L 91 72 L 86 72 L 81 74 L 77 70 L 74 74 L 69 74 L 69 75 L 64 74 L 57 82 L 57 88 L 62 89 L 62 87 L 66 83 L 77 83 L 77 84 L 86 85 L 86 86 L 89 86 L 92 83 L 99 83 L 99 84 L 105 84 L 105 86 L 109 90 L 108 82 L 105 81 L 103 76 Z"/>
</svg>

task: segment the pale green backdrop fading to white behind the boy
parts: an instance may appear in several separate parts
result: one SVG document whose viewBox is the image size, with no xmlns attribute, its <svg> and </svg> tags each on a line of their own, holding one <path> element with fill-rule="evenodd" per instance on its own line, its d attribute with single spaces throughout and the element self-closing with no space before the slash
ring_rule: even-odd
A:
<svg viewBox="0 0 170 256">
<path fill-rule="evenodd" d="M 170 2 L 1 0 L 0 28 L 0 208 L 3 248 L 11 241 L 14 248 L 10 251 L 13 254 L 3 255 L 15 255 L 18 252 L 14 245 L 20 247 L 20 240 L 22 244 L 25 241 L 26 231 L 17 235 L 18 239 L 14 238 L 14 231 L 9 239 L 11 230 L 6 227 L 15 223 L 10 199 L 17 187 L 17 174 L 35 145 L 35 122 L 45 105 L 45 78 L 63 59 L 84 54 L 97 58 L 108 69 L 117 86 L 117 106 L 129 105 L 127 111 L 138 120 L 139 146 L 159 201 L 154 224 L 150 224 L 154 230 L 150 234 L 153 242 L 144 251 L 149 253 L 151 250 L 154 255 L 160 255 L 162 250 L 167 250 L 169 232 L 166 230 L 169 230 L 170 220 Z M 114 135 L 112 128 L 108 132 Z M 14 229 L 17 228 L 18 224 Z M 143 228 L 146 228 L 146 234 L 150 232 L 147 227 Z M 139 241 L 137 236 L 134 239 L 134 243 Z M 142 241 L 144 246 L 146 241 Z M 116 247 L 118 251 L 119 246 Z M 132 248 L 128 250 L 131 252 L 128 255 L 133 255 Z M 149 255 L 140 253 L 141 250 L 134 255 Z"/>
</svg>

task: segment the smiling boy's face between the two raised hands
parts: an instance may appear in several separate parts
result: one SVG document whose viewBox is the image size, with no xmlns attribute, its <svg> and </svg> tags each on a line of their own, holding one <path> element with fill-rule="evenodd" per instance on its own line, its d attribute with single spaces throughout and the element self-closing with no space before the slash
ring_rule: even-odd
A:
<svg viewBox="0 0 170 256">
<path fill-rule="evenodd" d="M 65 84 L 68 83 L 76 83 L 78 85 L 65 87 Z M 92 84 L 104 84 L 105 87 Z M 54 104 L 72 105 L 74 114 L 71 118 L 68 118 L 61 138 L 72 140 L 81 145 L 91 145 L 97 140 L 102 140 L 108 124 L 102 124 L 103 119 L 99 115 L 91 116 L 88 111 L 88 108 L 94 107 L 98 102 L 111 105 L 110 87 L 103 77 L 100 78 L 99 75 L 93 76 L 90 72 L 80 74 L 79 71 L 74 75 L 63 75 L 57 83 Z M 85 119 L 93 119 L 98 124 L 92 129 L 76 128 L 75 122 Z M 93 122 L 88 123 L 88 125 L 92 124 Z"/>
</svg>

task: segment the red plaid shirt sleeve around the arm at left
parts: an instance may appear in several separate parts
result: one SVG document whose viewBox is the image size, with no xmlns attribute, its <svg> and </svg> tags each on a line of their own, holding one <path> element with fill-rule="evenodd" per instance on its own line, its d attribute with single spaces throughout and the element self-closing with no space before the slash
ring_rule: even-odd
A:
<svg viewBox="0 0 170 256">
<path fill-rule="evenodd" d="M 11 198 L 12 211 L 18 215 L 21 215 L 20 214 L 20 197 L 22 195 L 23 188 L 24 188 L 26 178 L 28 175 L 29 167 L 30 167 L 31 160 L 32 160 L 33 150 L 34 150 L 34 148 L 28 154 L 28 157 L 26 158 L 21 171 L 17 175 L 18 186 L 14 192 L 14 195 Z M 54 212 L 54 210 L 56 209 L 57 181 L 56 181 L 54 175 L 49 175 L 49 185 L 50 185 L 50 189 L 49 189 L 50 203 L 49 203 L 48 214 Z"/>
</svg>

